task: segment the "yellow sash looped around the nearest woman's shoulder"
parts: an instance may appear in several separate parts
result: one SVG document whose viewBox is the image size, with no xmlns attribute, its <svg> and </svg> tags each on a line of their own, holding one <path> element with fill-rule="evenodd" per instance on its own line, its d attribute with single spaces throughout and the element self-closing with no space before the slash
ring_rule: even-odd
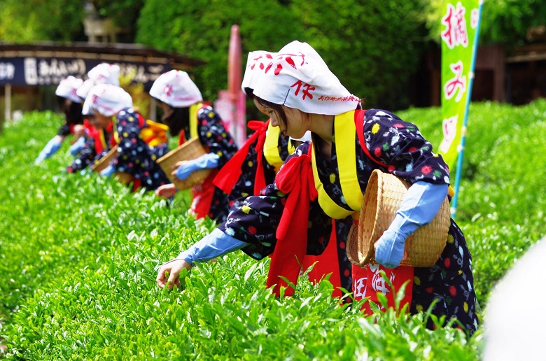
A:
<svg viewBox="0 0 546 361">
<path fill-rule="evenodd" d="M 332 218 L 342 219 L 355 212 L 360 211 L 363 194 L 356 176 L 356 150 L 354 123 L 354 111 L 336 115 L 334 119 L 335 129 L 335 152 L 337 154 L 337 167 L 339 169 L 339 181 L 342 187 L 342 194 L 351 210 L 338 206 L 335 201 L 325 192 L 318 171 L 316 170 L 316 156 L 314 146 L 311 147 L 311 159 L 313 161 L 313 178 L 316 191 L 318 192 L 318 204 L 323 211 Z"/>
</svg>

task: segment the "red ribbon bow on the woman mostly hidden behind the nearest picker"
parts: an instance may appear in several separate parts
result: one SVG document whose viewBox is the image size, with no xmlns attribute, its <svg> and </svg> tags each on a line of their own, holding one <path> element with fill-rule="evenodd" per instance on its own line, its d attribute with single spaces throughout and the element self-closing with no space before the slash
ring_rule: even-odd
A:
<svg viewBox="0 0 546 361">
<path fill-rule="evenodd" d="M 267 132 L 267 125 L 269 125 L 269 120 L 267 122 L 260 122 L 259 120 L 251 120 L 248 122 L 248 127 L 255 130 L 255 132 L 249 136 L 244 142 L 243 146 L 237 153 L 233 155 L 229 162 L 227 162 L 220 171 L 218 175 L 214 178 L 214 185 L 223 190 L 226 194 L 230 194 L 237 183 L 237 180 L 241 177 L 242 165 L 248 155 L 251 145 L 258 140 L 255 145 L 256 154 L 258 157 L 256 163 L 256 173 L 254 179 L 254 195 L 260 194 L 260 190 L 265 188 L 265 176 L 263 173 L 262 167 L 262 155 L 263 155 L 263 146 L 265 143 L 265 134 Z"/>
</svg>

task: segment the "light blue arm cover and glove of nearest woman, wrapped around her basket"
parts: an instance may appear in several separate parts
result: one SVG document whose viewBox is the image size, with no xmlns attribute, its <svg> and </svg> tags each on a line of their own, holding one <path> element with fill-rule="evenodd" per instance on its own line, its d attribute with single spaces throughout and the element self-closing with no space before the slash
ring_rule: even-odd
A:
<svg viewBox="0 0 546 361">
<path fill-rule="evenodd" d="M 412 184 L 391 225 L 377 241 L 375 260 L 384 267 L 398 267 L 404 255 L 405 239 L 423 225 L 428 225 L 447 196 L 447 184 L 419 180 Z"/>
</svg>

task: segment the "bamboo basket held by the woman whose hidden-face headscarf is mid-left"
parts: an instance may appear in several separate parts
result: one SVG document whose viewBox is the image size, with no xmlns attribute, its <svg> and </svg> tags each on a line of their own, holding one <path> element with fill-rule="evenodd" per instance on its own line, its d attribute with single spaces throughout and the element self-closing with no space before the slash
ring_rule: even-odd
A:
<svg viewBox="0 0 546 361">
<path fill-rule="evenodd" d="M 177 189 L 185 190 L 194 185 L 202 184 L 209 174 L 211 174 L 212 170 L 200 169 L 193 171 L 187 179 L 180 180 L 179 178 L 176 178 L 176 176 L 172 176 L 172 167 L 176 162 L 180 162 L 181 160 L 195 160 L 205 154 L 207 154 L 207 151 L 203 148 L 197 136 L 195 136 L 178 148 L 173 149 L 166 155 L 160 157 L 156 162 L 158 162 L 161 169 L 163 169 L 169 180 Z"/>
</svg>

